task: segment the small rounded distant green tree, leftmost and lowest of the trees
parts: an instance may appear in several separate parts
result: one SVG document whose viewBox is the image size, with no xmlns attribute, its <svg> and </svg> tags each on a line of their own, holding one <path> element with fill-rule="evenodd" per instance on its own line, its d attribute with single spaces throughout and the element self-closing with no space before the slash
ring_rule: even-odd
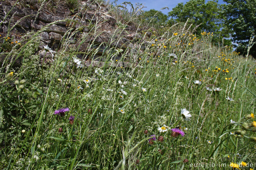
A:
<svg viewBox="0 0 256 170">
<path fill-rule="evenodd" d="M 142 14 L 142 18 L 146 21 L 151 23 L 153 25 L 163 25 L 168 20 L 168 16 L 163 14 L 161 11 L 157 11 L 155 9 L 150 9 L 149 11 L 145 11 Z"/>
</svg>

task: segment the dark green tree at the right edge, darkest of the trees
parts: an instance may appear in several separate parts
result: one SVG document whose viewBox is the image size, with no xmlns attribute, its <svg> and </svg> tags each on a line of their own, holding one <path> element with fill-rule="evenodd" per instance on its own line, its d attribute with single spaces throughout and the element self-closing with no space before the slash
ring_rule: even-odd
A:
<svg viewBox="0 0 256 170">
<path fill-rule="evenodd" d="M 224 0 L 226 26 L 232 31 L 232 41 L 238 45 L 237 52 L 247 53 L 247 46 L 252 34 L 256 34 L 256 0 Z M 250 53 L 256 58 L 256 45 Z"/>
</svg>

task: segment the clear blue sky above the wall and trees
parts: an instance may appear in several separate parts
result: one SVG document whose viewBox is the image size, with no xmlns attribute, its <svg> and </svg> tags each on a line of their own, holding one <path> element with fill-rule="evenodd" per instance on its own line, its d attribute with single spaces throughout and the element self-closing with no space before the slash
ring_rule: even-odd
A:
<svg viewBox="0 0 256 170">
<path fill-rule="evenodd" d="M 162 10 L 162 13 L 167 14 L 169 11 L 171 11 L 178 3 L 183 2 L 183 4 L 186 4 L 189 0 L 118 0 L 116 4 L 121 4 L 122 2 L 131 2 L 133 5 L 135 3 L 141 3 L 147 8 L 143 8 L 143 10 L 148 11 L 150 9 L 160 10 L 161 8 L 167 6 L 168 9 Z M 208 1 L 208 0 L 206 0 Z M 113 0 L 111 0 L 113 2 Z M 218 1 L 219 4 L 224 4 L 223 0 Z M 127 6 L 129 9 L 129 7 Z"/>
</svg>

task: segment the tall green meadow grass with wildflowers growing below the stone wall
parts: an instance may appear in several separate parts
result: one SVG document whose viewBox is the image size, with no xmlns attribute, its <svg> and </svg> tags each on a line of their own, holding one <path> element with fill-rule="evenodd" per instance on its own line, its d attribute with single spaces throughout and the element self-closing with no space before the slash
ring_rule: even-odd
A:
<svg viewBox="0 0 256 170">
<path fill-rule="evenodd" d="M 122 10 L 112 6 L 109 14 L 118 12 Z M 136 30 L 141 38 L 133 47 L 113 46 L 126 36 L 125 26 L 136 13 L 129 17 L 104 43 L 103 62 L 95 62 L 103 44 L 94 46 L 94 40 L 103 35 L 99 25 L 104 20 L 91 23 L 78 44 L 91 40 L 94 45 L 86 52 L 69 48 L 74 45 L 71 37 L 80 31 L 73 31 L 72 24 L 53 57 L 44 50 L 43 56 L 36 53 L 38 35 L 47 27 L 10 45 L 1 65 L 2 169 L 204 169 L 190 164 L 207 162 L 226 163 L 209 169 L 229 169 L 230 162 L 241 161 L 255 168 L 255 142 L 247 138 L 255 132 L 249 129 L 238 137 L 228 131 L 252 122 L 243 116 L 255 113 L 255 60 L 229 47 L 213 46 L 211 34 L 199 39 L 186 23 L 158 32 L 145 26 Z M 10 41 L 2 44 L 4 48 Z M 82 56 L 81 67 L 73 62 L 77 54 Z M 90 65 L 85 65 L 86 58 L 92 60 Z M 20 67 L 12 67 L 15 59 L 22 61 Z M 11 71 L 13 77 L 7 80 Z M 18 91 L 14 81 L 22 79 L 25 87 Z M 208 92 L 205 87 L 222 90 Z M 70 111 L 65 116 L 54 114 L 66 107 Z M 181 119 L 182 108 L 191 113 L 191 120 Z M 237 124 L 229 125 L 231 119 Z M 164 125 L 168 131 L 160 133 Z M 184 137 L 171 136 L 177 126 Z M 153 144 L 148 142 L 151 135 L 156 135 Z"/>
</svg>

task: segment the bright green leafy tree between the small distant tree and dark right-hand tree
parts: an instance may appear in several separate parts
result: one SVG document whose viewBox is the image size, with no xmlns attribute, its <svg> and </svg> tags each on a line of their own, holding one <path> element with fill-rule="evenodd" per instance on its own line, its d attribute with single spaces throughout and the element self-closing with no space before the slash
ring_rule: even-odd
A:
<svg viewBox="0 0 256 170">
<path fill-rule="evenodd" d="M 186 22 L 189 18 L 189 24 L 198 26 L 196 33 L 214 32 L 213 41 L 217 44 L 222 38 L 228 38 L 229 32 L 223 28 L 224 15 L 222 13 L 223 5 L 219 5 L 218 1 L 190 0 L 185 5 L 178 3 L 172 11 L 168 13 L 173 17 L 171 22 Z M 231 44 L 230 40 L 225 40 L 224 45 Z"/>
</svg>

